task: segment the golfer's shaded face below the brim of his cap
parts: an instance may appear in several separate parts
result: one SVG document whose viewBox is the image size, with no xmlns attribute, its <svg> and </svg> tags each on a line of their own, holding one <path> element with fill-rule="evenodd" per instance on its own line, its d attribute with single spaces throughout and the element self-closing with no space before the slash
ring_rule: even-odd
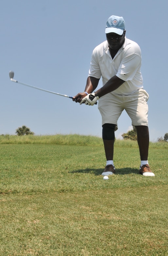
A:
<svg viewBox="0 0 168 256">
<path fill-rule="evenodd" d="M 122 35 L 116 33 L 106 34 L 108 45 L 112 50 L 119 50 L 121 48 L 125 40 L 125 32 Z"/>
</svg>

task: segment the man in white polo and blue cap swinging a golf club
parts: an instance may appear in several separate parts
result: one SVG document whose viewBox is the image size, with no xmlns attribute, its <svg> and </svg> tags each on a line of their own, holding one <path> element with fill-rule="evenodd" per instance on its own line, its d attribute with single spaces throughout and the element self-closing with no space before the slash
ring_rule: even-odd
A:
<svg viewBox="0 0 168 256">
<path fill-rule="evenodd" d="M 132 120 L 134 131 L 137 132 L 141 160 L 139 172 L 143 176 L 155 176 L 148 164 L 149 95 L 143 89 L 140 72 L 141 51 L 137 43 L 125 37 L 125 32 L 123 17 L 112 15 L 108 18 L 105 28 L 107 40 L 93 50 L 85 90 L 74 96 L 73 101 L 93 106 L 99 100 L 107 160 L 103 176 L 115 173 L 114 132 L 118 129 L 117 121 L 124 109 Z M 101 76 L 103 87 L 92 93 L 97 88 Z"/>
</svg>

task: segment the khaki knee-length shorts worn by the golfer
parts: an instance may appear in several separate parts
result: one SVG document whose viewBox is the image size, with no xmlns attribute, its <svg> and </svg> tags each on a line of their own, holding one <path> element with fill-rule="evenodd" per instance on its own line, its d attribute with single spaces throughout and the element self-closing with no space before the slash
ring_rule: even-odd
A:
<svg viewBox="0 0 168 256">
<path fill-rule="evenodd" d="M 116 124 L 125 109 L 132 120 L 134 131 L 136 125 L 148 126 L 148 93 L 140 89 L 130 95 L 115 95 L 108 93 L 99 99 L 98 109 L 102 115 L 102 125 L 105 123 Z"/>
</svg>

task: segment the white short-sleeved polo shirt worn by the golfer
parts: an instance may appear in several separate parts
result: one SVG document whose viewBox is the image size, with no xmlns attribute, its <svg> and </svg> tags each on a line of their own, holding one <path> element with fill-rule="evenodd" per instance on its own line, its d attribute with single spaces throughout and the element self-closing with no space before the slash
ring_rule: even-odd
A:
<svg viewBox="0 0 168 256">
<path fill-rule="evenodd" d="M 129 95 L 143 88 L 143 79 L 140 72 L 141 50 L 139 45 L 127 39 L 112 59 L 108 42 L 98 45 L 92 53 L 89 75 L 101 78 L 103 85 L 113 77 L 118 76 L 125 82 L 113 94 Z"/>
</svg>

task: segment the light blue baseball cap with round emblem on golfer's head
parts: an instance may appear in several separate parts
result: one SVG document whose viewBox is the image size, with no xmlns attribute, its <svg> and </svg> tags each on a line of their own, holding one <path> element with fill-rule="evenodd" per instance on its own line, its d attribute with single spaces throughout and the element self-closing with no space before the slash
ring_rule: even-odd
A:
<svg viewBox="0 0 168 256">
<path fill-rule="evenodd" d="M 122 35 L 125 30 L 125 21 L 123 17 L 112 15 L 108 18 L 105 33 L 116 33 Z"/>
</svg>

